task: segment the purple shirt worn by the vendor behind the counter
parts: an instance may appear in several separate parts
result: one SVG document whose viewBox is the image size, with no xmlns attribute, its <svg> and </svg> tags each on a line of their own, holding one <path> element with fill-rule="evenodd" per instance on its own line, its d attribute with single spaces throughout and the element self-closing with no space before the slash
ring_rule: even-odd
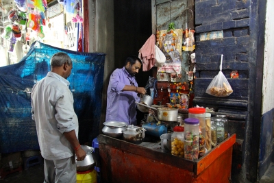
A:
<svg viewBox="0 0 274 183">
<path fill-rule="evenodd" d="M 105 121 L 121 121 L 136 125 L 136 103 L 140 101 L 136 92 L 122 91 L 125 85 L 138 86 L 134 76 L 130 75 L 125 66 L 116 69 L 110 76 Z"/>
</svg>

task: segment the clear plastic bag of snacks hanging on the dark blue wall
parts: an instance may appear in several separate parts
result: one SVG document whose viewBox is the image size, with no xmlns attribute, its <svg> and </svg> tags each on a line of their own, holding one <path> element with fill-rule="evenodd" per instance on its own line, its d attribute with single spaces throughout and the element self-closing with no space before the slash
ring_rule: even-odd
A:
<svg viewBox="0 0 274 183">
<path fill-rule="evenodd" d="M 218 75 L 216 75 L 213 78 L 212 82 L 206 89 L 206 93 L 208 93 L 209 95 L 213 95 L 215 97 L 227 97 L 233 93 L 232 87 L 227 81 L 227 78 L 225 78 L 225 75 L 223 75 L 222 63 L 223 63 L 223 54 L 221 56 L 220 71 Z"/>
</svg>

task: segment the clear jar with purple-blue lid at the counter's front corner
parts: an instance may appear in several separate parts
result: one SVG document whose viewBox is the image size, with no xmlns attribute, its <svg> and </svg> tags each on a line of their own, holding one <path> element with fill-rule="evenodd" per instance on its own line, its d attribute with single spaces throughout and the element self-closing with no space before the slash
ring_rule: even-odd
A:
<svg viewBox="0 0 274 183">
<path fill-rule="evenodd" d="M 184 158 L 198 160 L 199 157 L 199 119 L 184 119 Z"/>
</svg>

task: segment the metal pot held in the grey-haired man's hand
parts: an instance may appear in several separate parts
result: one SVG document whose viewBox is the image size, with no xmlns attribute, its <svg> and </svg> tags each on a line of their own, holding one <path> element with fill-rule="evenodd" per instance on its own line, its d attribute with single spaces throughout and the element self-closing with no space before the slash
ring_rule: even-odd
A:
<svg viewBox="0 0 274 183">
<path fill-rule="evenodd" d="M 93 153 L 95 149 L 93 147 L 89 147 L 87 145 L 81 145 L 82 149 L 86 151 L 86 158 L 82 161 L 76 160 L 76 170 L 77 171 L 88 171 L 91 169 L 94 169 L 95 164 L 97 162 L 97 158 L 95 154 Z M 77 157 L 75 156 L 75 159 Z"/>
</svg>

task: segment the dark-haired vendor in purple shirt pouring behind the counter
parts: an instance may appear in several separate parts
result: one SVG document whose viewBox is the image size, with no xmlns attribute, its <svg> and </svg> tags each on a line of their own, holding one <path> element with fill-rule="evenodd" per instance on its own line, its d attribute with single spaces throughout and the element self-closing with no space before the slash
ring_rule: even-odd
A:
<svg viewBox="0 0 274 183">
<path fill-rule="evenodd" d="M 105 121 L 121 121 L 136 125 L 136 103 L 138 94 L 145 94 L 143 87 L 138 87 L 134 75 L 138 73 L 142 62 L 137 56 L 129 56 L 122 69 L 116 69 L 110 76 Z"/>
</svg>

